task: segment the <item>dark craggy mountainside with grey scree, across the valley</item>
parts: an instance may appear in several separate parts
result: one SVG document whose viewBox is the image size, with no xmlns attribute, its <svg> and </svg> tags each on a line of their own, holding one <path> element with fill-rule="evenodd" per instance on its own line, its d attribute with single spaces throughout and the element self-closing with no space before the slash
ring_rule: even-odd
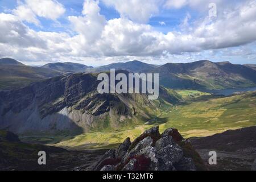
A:
<svg viewBox="0 0 256 182">
<path fill-rule="evenodd" d="M 158 111 L 146 94 L 99 94 L 98 83 L 96 75 L 74 74 L 0 92 L 0 128 L 18 134 L 82 133 L 147 121 Z"/>
</svg>

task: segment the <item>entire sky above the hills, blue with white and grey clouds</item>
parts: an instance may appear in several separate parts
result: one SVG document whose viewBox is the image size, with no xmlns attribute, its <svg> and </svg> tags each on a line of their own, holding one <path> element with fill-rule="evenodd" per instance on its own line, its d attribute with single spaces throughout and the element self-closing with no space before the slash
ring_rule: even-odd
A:
<svg viewBox="0 0 256 182">
<path fill-rule="evenodd" d="M 256 64 L 256 0 L 0 0 L 0 57 Z"/>
</svg>

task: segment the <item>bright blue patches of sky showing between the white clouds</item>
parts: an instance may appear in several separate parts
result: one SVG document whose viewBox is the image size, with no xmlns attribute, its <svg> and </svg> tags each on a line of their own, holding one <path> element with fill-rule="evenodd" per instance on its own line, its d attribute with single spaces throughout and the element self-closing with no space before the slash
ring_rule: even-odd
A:
<svg viewBox="0 0 256 182">
<path fill-rule="evenodd" d="M 37 27 L 34 26 L 32 23 L 26 23 L 28 26 L 33 28 L 36 31 L 66 31 L 65 26 L 68 26 L 69 22 L 67 20 L 68 16 L 72 15 L 82 15 L 82 9 L 83 9 L 83 3 L 84 0 L 76 0 L 76 1 L 70 1 L 70 0 L 59 0 L 62 5 L 65 6 L 65 14 L 63 16 L 60 16 L 58 21 L 61 23 L 61 27 L 56 27 L 55 22 L 51 19 L 46 18 L 40 18 L 39 20 L 42 23 L 43 27 Z M 15 7 L 18 5 L 16 0 L 1 0 L 0 1 L 0 11 L 1 12 L 7 12 L 15 9 Z M 100 1 L 99 6 L 101 8 L 100 14 L 104 15 L 107 20 L 119 18 L 120 15 L 118 11 L 116 11 L 113 7 L 106 6 L 103 2 Z M 155 30 L 164 32 L 166 34 L 167 32 L 171 30 L 175 30 L 177 26 L 182 22 L 183 17 L 187 13 L 193 13 L 193 18 L 198 16 L 196 12 L 192 12 L 192 10 L 189 10 L 188 8 L 183 9 L 172 9 L 172 10 L 160 10 L 158 14 L 153 16 L 149 19 L 148 24 L 150 24 L 152 27 L 155 28 Z M 161 25 L 159 22 L 166 23 L 164 26 Z"/>
</svg>

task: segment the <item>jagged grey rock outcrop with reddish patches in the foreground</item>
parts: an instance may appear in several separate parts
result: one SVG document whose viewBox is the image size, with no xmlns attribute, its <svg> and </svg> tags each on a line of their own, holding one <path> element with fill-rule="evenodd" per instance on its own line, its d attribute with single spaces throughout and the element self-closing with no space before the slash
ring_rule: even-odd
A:
<svg viewBox="0 0 256 182">
<path fill-rule="evenodd" d="M 176 129 L 161 135 L 153 127 L 118 150 L 110 150 L 93 168 L 96 171 L 196 171 L 204 170 L 203 160 Z"/>
</svg>

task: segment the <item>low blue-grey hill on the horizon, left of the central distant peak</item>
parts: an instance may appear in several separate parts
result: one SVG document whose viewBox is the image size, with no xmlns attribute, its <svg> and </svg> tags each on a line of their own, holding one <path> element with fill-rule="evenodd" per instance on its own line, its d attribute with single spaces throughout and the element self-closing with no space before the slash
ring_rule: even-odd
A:
<svg viewBox="0 0 256 182">
<path fill-rule="evenodd" d="M 59 72 L 84 73 L 86 72 L 87 69 L 91 69 L 93 67 L 88 67 L 84 64 L 67 62 L 67 63 L 49 63 L 46 65 L 43 65 L 42 68 L 53 69 Z"/>
</svg>

